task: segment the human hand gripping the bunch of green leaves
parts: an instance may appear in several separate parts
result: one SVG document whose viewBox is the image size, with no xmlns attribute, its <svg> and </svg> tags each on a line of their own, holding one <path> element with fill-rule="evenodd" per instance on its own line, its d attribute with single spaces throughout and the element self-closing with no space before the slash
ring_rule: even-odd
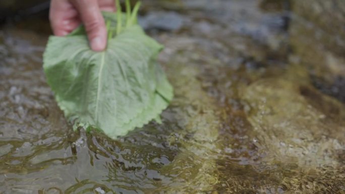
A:
<svg viewBox="0 0 345 194">
<path fill-rule="evenodd" d="M 113 0 L 51 0 L 49 20 L 56 36 L 66 36 L 84 24 L 91 49 L 106 47 L 107 32 L 101 11 L 116 11 Z"/>
</svg>

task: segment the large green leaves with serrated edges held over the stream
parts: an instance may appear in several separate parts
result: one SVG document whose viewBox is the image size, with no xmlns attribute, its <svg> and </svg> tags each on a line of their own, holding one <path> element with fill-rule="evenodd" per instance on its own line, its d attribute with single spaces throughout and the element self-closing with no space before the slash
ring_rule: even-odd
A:
<svg viewBox="0 0 345 194">
<path fill-rule="evenodd" d="M 66 117 L 117 138 L 159 118 L 173 92 L 156 61 L 162 46 L 139 25 L 121 24 L 118 31 L 119 15 L 103 16 L 108 33 L 118 32 L 104 51 L 92 51 L 80 27 L 69 36 L 49 38 L 43 68 Z"/>
</svg>

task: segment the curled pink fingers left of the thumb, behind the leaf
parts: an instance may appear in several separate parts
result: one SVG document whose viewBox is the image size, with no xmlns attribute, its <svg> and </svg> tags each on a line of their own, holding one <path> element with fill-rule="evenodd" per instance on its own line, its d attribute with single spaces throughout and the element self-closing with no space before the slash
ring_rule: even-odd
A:
<svg viewBox="0 0 345 194">
<path fill-rule="evenodd" d="M 65 36 L 74 30 L 80 21 L 78 12 L 68 0 L 52 0 L 50 3 L 49 20 L 54 35 Z"/>
</svg>

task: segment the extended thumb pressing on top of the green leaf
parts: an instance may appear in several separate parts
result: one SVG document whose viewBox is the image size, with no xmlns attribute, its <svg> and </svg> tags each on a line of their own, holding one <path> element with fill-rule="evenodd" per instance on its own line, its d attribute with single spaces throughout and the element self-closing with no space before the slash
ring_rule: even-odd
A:
<svg viewBox="0 0 345 194">
<path fill-rule="evenodd" d="M 94 51 L 104 50 L 107 32 L 97 0 L 74 0 L 74 5 L 84 23 L 91 49 Z"/>
</svg>

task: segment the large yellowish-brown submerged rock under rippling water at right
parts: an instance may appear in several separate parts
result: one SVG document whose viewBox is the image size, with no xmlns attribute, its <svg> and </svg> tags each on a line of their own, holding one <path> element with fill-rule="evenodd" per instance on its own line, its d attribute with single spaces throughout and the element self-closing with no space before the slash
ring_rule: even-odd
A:
<svg viewBox="0 0 345 194">
<path fill-rule="evenodd" d="M 335 158 L 337 152 L 345 151 L 345 106 L 340 102 L 283 79 L 252 84 L 244 99 L 251 106 L 248 119 L 269 158 L 295 161 L 305 168 L 341 165 Z M 334 117 L 329 112 L 314 107 L 314 99 L 339 107 L 340 117 L 331 121 Z"/>
</svg>

